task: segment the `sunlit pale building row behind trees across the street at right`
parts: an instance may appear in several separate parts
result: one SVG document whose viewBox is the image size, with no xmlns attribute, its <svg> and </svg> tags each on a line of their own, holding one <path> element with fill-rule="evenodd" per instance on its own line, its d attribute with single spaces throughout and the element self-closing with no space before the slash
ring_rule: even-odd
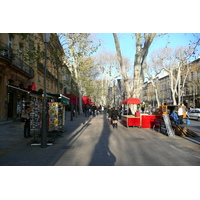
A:
<svg viewBox="0 0 200 200">
<path fill-rule="evenodd" d="M 182 88 L 183 80 L 186 76 L 187 70 L 189 70 L 189 74 L 187 76 L 184 88 Z M 163 75 L 157 78 L 156 86 L 161 104 L 172 104 L 173 101 L 169 75 Z M 181 95 L 181 101 L 186 106 L 200 107 L 200 58 L 188 63 L 185 65 L 184 69 L 181 70 L 180 89 L 183 91 Z M 144 83 L 143 91 L 141 93 L 141 100 L 147 104 L 157 106 L 155 90 L 151 82 Z"/>
</svg>

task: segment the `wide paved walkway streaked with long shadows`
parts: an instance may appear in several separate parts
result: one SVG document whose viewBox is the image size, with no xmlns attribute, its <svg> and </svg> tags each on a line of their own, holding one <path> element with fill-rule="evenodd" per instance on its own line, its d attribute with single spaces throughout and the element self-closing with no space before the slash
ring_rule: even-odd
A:
<svg viewBox="0 0 200 200">
<path fill-rule="evenodd" d="M 30 146 L 20 124 L 0 125 L 2 166 L 199 166 L 200 137 L 167 137 L 151 129 L 118 129 L 106 115 L 66 120 L 65 132 L 47 148 Z"/>
</svg>

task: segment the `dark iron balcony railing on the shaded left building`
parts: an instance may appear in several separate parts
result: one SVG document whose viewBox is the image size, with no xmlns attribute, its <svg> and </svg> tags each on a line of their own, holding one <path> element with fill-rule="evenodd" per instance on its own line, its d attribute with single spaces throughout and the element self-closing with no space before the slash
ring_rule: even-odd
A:
<svg viewBox="0 0 200 200">
<path fill-rule="evenodd" d="M 14 55 L 12 49 L 4 43 L 0 43 L 0 57 L 9 61 L 15 69 L 21 71 L 30 78 L 34 77 L 34 70 L 30 65 L 26 64 L 20 57 Z"/>
</svg>

